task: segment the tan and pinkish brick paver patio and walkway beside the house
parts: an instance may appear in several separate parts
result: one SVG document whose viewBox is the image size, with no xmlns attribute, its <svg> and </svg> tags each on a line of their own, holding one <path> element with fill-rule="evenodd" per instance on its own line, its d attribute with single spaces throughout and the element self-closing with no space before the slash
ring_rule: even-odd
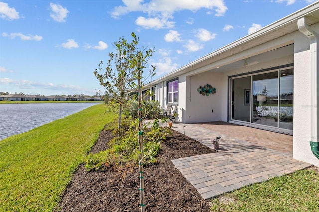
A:
<svg viewBox="0 0 319 212">
<path fill-rule="evenodd" d="M 311 166 L 292 158 L 289 135 L 226 122 L 174 123 L 173 129 L 185 129 L 185 135 L 210 148 L 221 137 L 216 153 L 172 160 L 204 199 Z"/>
</svg>

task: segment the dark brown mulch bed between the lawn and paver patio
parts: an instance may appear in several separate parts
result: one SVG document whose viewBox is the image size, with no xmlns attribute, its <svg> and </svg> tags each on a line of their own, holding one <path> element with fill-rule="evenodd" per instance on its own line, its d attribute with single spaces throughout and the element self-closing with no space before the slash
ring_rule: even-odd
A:
<svg viewBox="0 0 319 212">
<path fill-rule="evenodd" d="M 110 131 L 102 131 L 92 152 L 105 150 L 111 138 Z M 214 150 L 172 130 L 162 142 L 158 163 L 144 167 L 145 211 L 209 212 L 210 203 L 201 197 L 171 160 L 212 152 Z M 81 166 L 59 207 L 61 212 L 137 212 L 140 211 L 139 188 L 138 167 L 86 172 Z"/>
</svg>

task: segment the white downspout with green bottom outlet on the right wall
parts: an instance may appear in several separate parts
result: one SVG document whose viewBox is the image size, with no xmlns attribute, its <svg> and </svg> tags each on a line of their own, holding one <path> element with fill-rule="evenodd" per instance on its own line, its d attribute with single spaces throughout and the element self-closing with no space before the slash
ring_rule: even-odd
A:
<svg viewBox="0 0 319 212">
<path fill-rule="evenodd" d="M 316 158 L 319 159 L 319 36 L 313 29 L 309 28 L 305 17 L 298 19 L 297 25 L 299 31 L 306 35 L 310 41 L 310 148 Z"/>
</svg>

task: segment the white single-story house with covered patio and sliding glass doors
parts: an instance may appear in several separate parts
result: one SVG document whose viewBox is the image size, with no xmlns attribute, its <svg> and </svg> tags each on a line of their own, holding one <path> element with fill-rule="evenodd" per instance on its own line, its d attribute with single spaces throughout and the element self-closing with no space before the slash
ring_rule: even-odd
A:
<svg viewBox="0 0 319 212">
<path fill-rule="evenodd" d="M 293 135 L 319 166 L 319 2 L 152 81 L 183 123 L 225 121 Z"/>
</svg>

